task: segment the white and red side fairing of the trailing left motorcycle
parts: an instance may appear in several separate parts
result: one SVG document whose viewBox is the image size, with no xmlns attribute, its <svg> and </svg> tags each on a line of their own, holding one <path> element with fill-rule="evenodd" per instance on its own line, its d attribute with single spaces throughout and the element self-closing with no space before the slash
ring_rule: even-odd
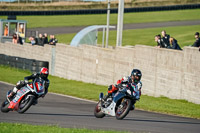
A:
<svg viewBox="0 0 200 133">
<path fill-rule="evenodd" d="M 13 109 L 13 110 L 18 110 L 19 102 L 28 92 L 30 92 L 30 89 L 26 86 L 18 90 L 15 98 L 10 102 L 10 105 L 8 106 L 8 108 Z"/>
</svg>

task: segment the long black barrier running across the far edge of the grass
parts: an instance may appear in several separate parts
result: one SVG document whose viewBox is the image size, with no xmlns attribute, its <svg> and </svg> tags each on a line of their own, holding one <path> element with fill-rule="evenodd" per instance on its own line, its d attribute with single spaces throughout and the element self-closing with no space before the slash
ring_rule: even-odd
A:
<svg viewBox="0 0 200 133">
<path fill-rule="evenodd" d="M 198 9 L 200 4 L 172 5 L 158 7 L 137 7 L 125 8 L 124 12 L 149 12 L 149 11 L 168 11 L 183 9 Z M 111 13 L 117 13 L 118 9 L 111 9 Z M 107 9 L 89 9 L 89 10 L 60 10 L 60 11 L 0 11 L 0 15 L 78 15 L 78 14 L 106 14 Z"/>
</svg>

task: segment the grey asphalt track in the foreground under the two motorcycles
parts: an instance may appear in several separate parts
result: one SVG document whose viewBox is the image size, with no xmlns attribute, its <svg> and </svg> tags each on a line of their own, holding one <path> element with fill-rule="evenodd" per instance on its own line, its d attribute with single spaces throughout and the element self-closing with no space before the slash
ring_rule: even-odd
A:
<svg viewBox="0 0 200 133">
<path fill-rule="evenodd" d="M 12 85 L 0 82 L 0 103 L 5 99 L 6 92 L 12 88 Z M 93 115 L 94 106 L 94 102 L 49 93 L 24 114 L 0 112 L 0 122 L 142 133 L 200 132 L 200 120 L 140 110 L 131 111 L 124 120 L 109 116 L 97 119 Z"/>
</svg>

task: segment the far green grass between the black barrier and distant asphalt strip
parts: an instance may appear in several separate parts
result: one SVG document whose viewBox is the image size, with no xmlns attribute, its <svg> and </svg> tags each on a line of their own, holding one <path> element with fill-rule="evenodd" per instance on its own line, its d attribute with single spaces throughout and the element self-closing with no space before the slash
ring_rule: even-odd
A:
<svg viewBox="0 0 200 133">
<path fill-rule="evenodd" d="M 200 19 L 199 14 L 200 14 L 200 9 L 125 13 L 124 24 L 198 20 Z M 0 18 L 5 19 L 7 17 L 0 16 Z M 58 16 L 17 16 L 17 19 L 26 20 L 28 22 L 28 28 L 86 26 L 86 25 L 106 24 L 107 15 L 93 14 L 93 15 L 58 15 Z M 117 24 L 117 14 L 110 15 L 110 24 Z"/>
</svg>

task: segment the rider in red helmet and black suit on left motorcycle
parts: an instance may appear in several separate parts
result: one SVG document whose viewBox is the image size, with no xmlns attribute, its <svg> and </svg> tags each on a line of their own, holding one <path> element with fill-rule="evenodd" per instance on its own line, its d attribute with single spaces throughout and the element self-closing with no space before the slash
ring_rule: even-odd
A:
<svg viewBox="0 0 200 133">
<path fill-rule="evenodd" d="M 44 97 L 47 92 L 48 92 L 48 87 L 49 87 L 49 80 L 48 80 L 48 75 L 49 75 L 49 71 L 47 68 L 43 67 L 41 68 L 39 73 L 34 73 L 30 76 L 24 77 L 24 80 L 20 80 L 17 82 L 16 86 L 13 88 L 13 91 L 9 94 L 8 98 L 12 99 L 12 97 L 17 93 L 17 91 L 24 87 L 26 84 L 29 83 L 29 80 L 34 81 L 36 78 L 39 80 L 44 80 L 45 84 L 44 84 L 44 88 L 45 88 L 45 93 L 44 95 L 42 95 L 42 97 Z"/>
</svg>

